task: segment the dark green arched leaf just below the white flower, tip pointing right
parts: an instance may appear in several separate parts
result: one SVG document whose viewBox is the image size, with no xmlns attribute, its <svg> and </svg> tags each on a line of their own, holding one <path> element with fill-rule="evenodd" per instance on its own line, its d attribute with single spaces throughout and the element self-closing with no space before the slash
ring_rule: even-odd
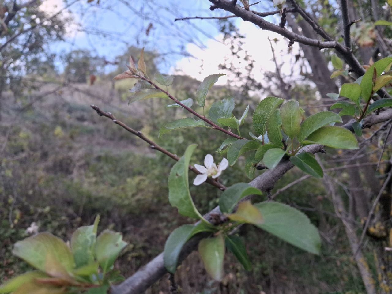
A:
<svg viewBox="0 0 392 294">
<path fill-rule="evenodd" d="M 248 183 L 236 183 L 228 187 L 219 198 L 222 213 L 231 213 L 238 201 L 249 195 L 261 195 L 261 191 Z"/>
</svg>

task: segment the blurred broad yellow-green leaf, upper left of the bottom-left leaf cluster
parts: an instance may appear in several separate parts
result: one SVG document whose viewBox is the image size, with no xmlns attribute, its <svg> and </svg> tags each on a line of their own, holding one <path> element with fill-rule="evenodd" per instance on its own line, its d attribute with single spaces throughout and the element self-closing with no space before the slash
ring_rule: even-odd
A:
<svg viewBox="0 0 392 294">
<path fill-rule="evenodd" d="M 16 242 L 12 253 L 42 271 L 45 271 L 48 254 L 56 256 L 58 262 L 68 271 L 75 267 L 71 249 L 63 240 L 48 232 Z"/>
</svg>

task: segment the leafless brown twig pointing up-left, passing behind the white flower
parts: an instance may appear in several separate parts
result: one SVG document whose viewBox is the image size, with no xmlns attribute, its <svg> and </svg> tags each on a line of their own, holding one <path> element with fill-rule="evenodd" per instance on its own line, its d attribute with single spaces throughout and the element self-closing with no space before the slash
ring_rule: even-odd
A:
<svg viewBox="0 0 392 294">
<path fill-rule="evenodd" d="M 142 132 L 135 131 L 131 127 L 128 127 L 125 123 L 121 122 L 120 120 L 117 120 L 113 114 L 111 114 L 109 112 L 102 111 L 98 106 L 95 106 L 95 105 L 90 105 L 90 106 L 92 109 L 94 109 L 98 113 L 98 115 L 106 116 L 107 118 L 110 118 L 117 125 L 120 125 L 124 129 L 126 129 L 128 132 L 134 134 L 135 136 L 138 136 L 143 141 L 149 143 L 151 149 L 158 150 L 158 151 L 162 152 L 163 154 L 169 156 L 170 158 L 174 159 L 175 161 L 180 160 L 180 157 L 178 157 L 176 154 L 173 154 L 170 151 L 167 151 L 165 148 L 161 147 L 160 145 L 158 145 L 154 141 L 152 141 L 149 138 L 147 138 L 146 136 L 144 136 L 144 134 Z M 189 170 L 194 172 L 195 174 L 200 174 L 200 172 L 191 165 L 189 165 Z M 206 182 L 212 186 L 217 187 L 221 191 L 226 190 L 226 187 L 224 185 L 222 185 L 218 180 L 214 180 L 212 178 L 207 178 Z"/>
</svg>

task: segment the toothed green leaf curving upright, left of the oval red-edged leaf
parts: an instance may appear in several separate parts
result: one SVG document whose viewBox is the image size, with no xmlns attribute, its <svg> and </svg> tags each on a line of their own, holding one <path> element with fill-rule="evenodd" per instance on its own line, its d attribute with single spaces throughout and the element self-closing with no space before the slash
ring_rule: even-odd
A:
<svg viewBox="0 0 392 294">
<path fill-rule="evenodd" d="M 258 134 L 265 134 L 267 119 L 283 101 L 282 98 L 269 96 L 257 105 L 253 113 L 253 127 Z"/>
</svg>

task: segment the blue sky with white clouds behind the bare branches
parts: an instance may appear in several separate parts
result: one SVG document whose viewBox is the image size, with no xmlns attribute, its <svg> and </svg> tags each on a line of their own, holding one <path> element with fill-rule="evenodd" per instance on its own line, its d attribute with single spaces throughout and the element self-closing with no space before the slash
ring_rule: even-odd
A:
<svg viewBox="0 0 392 294">
<path fill-rule="evenodd" d="M 130 46 L 145 47 L 145 50 L 161 54 L 158 69 L 162 73 L 183 73 L 203 80 L 209 74 L 222 72 L 218 65 L 230 56 L 230 49 L 223 44 L 223 34 L 218 29 L 217 21 L 174 22 L 174 19 L 227 15 L 219 10 L 211 12 L 210 5 L 211 2 L 207 0 L 100 0 L 99 5 L 80 0 L 67 9 L 66 15 L 72 15 L 73 22 L 68 25 L 66 42 L 53 44 L 51 50 L 64 53 L 72 49 L 87 49 L 93 55 L 113 61 L 115 56 L 123 54 Z M 268 8 L 254 7 L 259 11 L 273 10 L 272 5 L 267 5 Z M 63 0 L 45 0 L 40 8 L 53 14 L 65 6 Z M 267 20 L 279 22 L 278 18 L 269 17 Z M 263 80 L 264 71 L 275 71 L 268 37 L 278 40 L 274 42 L 274 48 L 281 72 L 291 70 L 292 57 L 287 54 L 287 40 L 249 22 L 240 19 L 234 22 L 240 33 L 245 35 L 242 49 L 256 60 L 253 71 L 256 80 Z M 297 44 L 294 51 L 298 51 Z M 61 60 L 56 62 L 59 69 L 64 67 Z M 225 82 L 227 78 L 219 80 L 220 84 Z"/>
</svg>

